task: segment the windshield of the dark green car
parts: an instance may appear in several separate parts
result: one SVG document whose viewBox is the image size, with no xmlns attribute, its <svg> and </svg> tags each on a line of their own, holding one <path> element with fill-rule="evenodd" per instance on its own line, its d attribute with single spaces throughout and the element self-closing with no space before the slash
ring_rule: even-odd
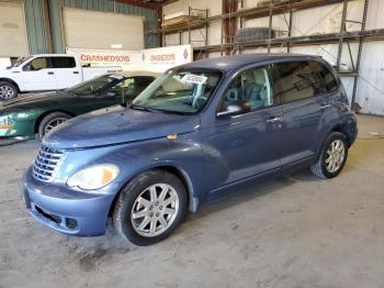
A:
<svg viewBox="0 0 384 288">
<path fill-rule="evenodd" d="M 76 86 L 68 88 L 66 90 L 71 92 L 71 93 L 79 95 L 79 96 L 92 95 L 92 93 L 97 93 L 101 90 L 104 90 L 112 85 L 116 85 L 117 82 L 121 82 L 125 78 L 121 75 L 114 75 L 114 74 L 104 75 L 104 76 L 84 81 L 82 84 L 76 85 Z"/>
</svg>

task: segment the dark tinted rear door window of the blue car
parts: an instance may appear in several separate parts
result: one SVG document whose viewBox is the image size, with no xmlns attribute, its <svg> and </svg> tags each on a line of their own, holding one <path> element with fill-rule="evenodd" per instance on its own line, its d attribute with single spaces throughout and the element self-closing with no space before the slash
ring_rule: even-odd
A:
<svg viewBox="0 0 384 288">
<path fill-rule="evenodd" d="M 308 62 L 286 62 L 274 64 L 278 75 L 275 96 L 283 103 L 308 99 L 321 91 L 321 80 Z"/>
</svg>

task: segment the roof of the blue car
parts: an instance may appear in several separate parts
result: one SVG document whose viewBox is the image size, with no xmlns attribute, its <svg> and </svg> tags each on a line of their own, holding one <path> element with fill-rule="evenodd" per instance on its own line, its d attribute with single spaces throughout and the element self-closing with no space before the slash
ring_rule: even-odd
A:
<svg viewBox="0 0 384 288">
<path fill-rule="evenodd" d="M 303 55 L 303 54 L 287 54 L 287 53 L 270 53 L 270 54 L 241 54 L 234 56 L 225 56 L 218 58 L 208 58 L 196 60 L 183 65 L 184 68 L 216 68 L 221 70 L 238 69 L 242 66 L 284 59 L 314 59 L 318 56 Z"/>
</svg>

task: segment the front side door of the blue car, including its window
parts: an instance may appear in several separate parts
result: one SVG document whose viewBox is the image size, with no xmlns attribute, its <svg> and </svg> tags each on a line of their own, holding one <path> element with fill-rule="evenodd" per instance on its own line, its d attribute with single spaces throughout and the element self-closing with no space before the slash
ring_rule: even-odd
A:
<svg viewBox="0 0 384 288">
<path fill-rule="evenodd" d="M 244 101 L 250 112 L 216 119 L 203 132 L 206 175 L 211 193 L 230 184 L 279 170 L 282 108 L 273 97 L 269 67 L 255 67 L 237 75 L 226 89 L 218 110 Z"/>
</svg>

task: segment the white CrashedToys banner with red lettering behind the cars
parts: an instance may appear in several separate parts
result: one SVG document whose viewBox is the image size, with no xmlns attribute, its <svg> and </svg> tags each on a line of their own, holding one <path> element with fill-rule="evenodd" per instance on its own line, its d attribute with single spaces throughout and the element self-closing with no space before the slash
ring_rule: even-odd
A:
<svg viewBox="0 0 384 288">
<path fill-rule="evenodd" d="M 178 65 L 192 62 L 192 46 L 179 45 L 142 51 L 105 51 L 67 48 L 78 56 L 81 65 L 121 66 L 123 70 L 149 70 L 162 73 Z"/>
</svg>

